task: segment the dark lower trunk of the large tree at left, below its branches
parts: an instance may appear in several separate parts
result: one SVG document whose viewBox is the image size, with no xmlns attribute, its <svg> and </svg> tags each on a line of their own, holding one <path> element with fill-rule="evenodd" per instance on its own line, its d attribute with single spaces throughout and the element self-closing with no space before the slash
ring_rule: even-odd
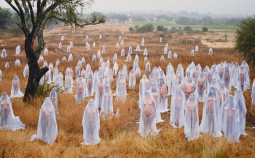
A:
<svg viewBox="0 0 255 158">
<path fill-rule="evenodd" d="M 29 66 L 29 77 L 25 91 L 25 96 L 23 98 L 24 102 L 29 101 L 31 98 L 35 96 L 41 77 L 49 70 L 48 67 L 40 69 L 39 64 L 37 62 L 38 56 L 35 54 L 33 50 L 33 41 L 34 41 L 33 36 L 30 35 L 26 37 L 25 52 Z"/>
</svg>

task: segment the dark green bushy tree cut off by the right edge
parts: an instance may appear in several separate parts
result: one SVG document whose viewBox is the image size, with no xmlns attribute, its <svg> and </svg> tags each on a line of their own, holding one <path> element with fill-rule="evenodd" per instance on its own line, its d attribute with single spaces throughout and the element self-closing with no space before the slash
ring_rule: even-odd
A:
<svg viewBox="0 0 255 158">
<path fill-rule="evenodd" d="M 255 66 L 255 16 L 242 21 L 236 33 L 235 48 Z"/>
</svg>

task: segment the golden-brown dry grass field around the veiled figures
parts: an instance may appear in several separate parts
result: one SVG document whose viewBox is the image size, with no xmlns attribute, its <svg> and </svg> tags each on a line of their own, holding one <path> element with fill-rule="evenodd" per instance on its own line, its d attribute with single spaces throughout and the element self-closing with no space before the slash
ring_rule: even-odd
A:
<svg viewBox="0 0 255 158">
<path fill-rule="evenodd" d="M 195 64 L 201 64 L 202 68 L 206 65 L 211 66 L 222 61 L 238 62 L 241 64 L 243 57 L 233 48 L 215 48 L 214 54 L 208 56 L 206 45 L 201 40 L 192 36 L 178 36 L 172 34 L 163 37 L 163 42 L 159 43 L 159 36 L 156 33 L 137 34 L 128 31 L 129 26 L 120 25 L 97 25 L 88 26 L 84 29 L 71 29 L 69 27 L 58 27 L 51 34 L 45 35 L 46 47 L 49 49 L 49 55 L 45 57 L 48 63 L 55 65 L 56 60 L 60 61 L 66 53 L 67 45 L 73 41 L 74 48 L 71 53 L 74 56 L 72 63 L 60 63 L 59 71 L 63 74 L 68 66 L 73 68 L 81 57 L 85 57 L 86 64 L 89 63 L 92 70 L 99 67 L 99 62 L 92 62 L 92 55 L 101 50 L 102 46 L 106 46 L 106 52 L 102 53 L 103 59 L 109 59 L 112 64 L 114 52 L 118 53 L 118 64 L 122 68 L 126 57 L 120 57 L 120 49 L 116 49 L 115 45 L 119 36 L 125 41 L 123 48 L 128 51 L 130 45 L 133 49 L 137 44 L 141 43 L 141 39 L 145 38 L 145 47 L 148 49 L 148 60 L 151 67 L 161 66 L 166 71 L 167 64 L 172 63 L 174 68 L 180 63 L 184 69 L 194 61 Z M 98 39 L 102 34 L 103 39 Z M 58 43 L 61 36 L 65 36 L 62 43 L 62 50 L 58 49 Z M 88 42 L 91 43 L 91 50 L 85 48 L 85 36 L 89 35 Z M 92 42 L 96 41 L 96 47 L 92 47 Z M 3 72 L 3 79 L 0 82 L 0 94 L 7 92 L 10 94 L 11 81 L 15 75 L 21 80 L 21 91 L 25 91 L 26 79 L 23 77 L 23 68 L 26 64 L 24 53 L 24 38 L 13 37 L 10 33 L 1 33 L 0 50 L 6 48 L 7 58 L 0 59 L 0 69 Z M 167 59 L 165 62 L 160 61 L 163 54 L 165 43 L 169 43 L 172 52 L 178 54 L 178 59 Z M 15 55 L 15 48 L 20 44 L 22 53 Z M 195 57 L 190 56 L 190 50 L 198 45 L 200 52 Z M 144 48 L 142 48 L 144 49 Z M 135 52 L 134 52 L 135 53 Z M 139 66 L 142 74 L 145 69 L 142 53 L 139 55 Z M 14 61 L 16 58 L 21 60 L 21 67 L 15 68 Z M 126 63 L 128 70 L 132 68 L 132 62 Z M 9 61 L 10 69 L 4 69 L 5 61 Z M 86 64 L 83 65 L 85 68 Z M 42 65 L 41 65 L 42 66 Z M 254 69 L 251 68 L 250 79 L 254 79 Z M 147 74 L 148 76 L 149 74 Z M 140 79 L 137 79 L 137 83 Z M 74 87 L 75 88 L 75 87 Z M 115 93 L 116 78 L 112 83 L 112 91 Z M 255 113 L 251 109 L 251 91 L 244 93 L 246 99 L 247 113 L 247 137 L 241 136 L 240 143 L 228 143 L 224 137 L 214 138 L 207 134 L 201 134 L 200 138 L 188 142 L 184 137 L 184 129 L 174 129 L 170 126 L 170 112 L 163 113 L 163 123 L 157 124 L 157 128 L 161 129 L 159 135 L 147 138 L 141 137 L 138 131 L 139 113 L 137 105 L 138 100 L 138 84 L 134 90 L 127 91 L 128 96 L 125 102 L 115 102 L 114 110 L 120 109 L 120 116 L 113 119 L 101 119 L 100 138 L 101 142 L 96 146 L 84 146 L 82 116 L 83 111 L 90 98 L 76 105 L 73 94 L 62 94 L 59 98 L 59 113 L 61 118 L 57 120 L 58 136 L 53 145 L 47 145 L 40 140 L 30 142 L 32 134 L 37 133 L 37 123 L 39 118 L 39 110 L 45 98 L 35 98 L 30 104 L 22 102 L 22 98 L 12 99 L 14 114 L 20 117 L 20 120 L 26 125 L 24 130 L 6 131 L 0 130 L 0 155 L 2 157 L 255 157 Z M 170 103 L 170 98 L 169 98 Z M 199 105 L 200 120 L 202 117 L 202 104 Z"/>
</svg>

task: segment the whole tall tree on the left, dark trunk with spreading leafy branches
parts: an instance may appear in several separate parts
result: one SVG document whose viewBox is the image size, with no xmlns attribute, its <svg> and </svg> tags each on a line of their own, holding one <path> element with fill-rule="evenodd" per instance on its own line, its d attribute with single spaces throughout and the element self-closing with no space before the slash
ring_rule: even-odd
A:
<svg viewBox="0 0 255 158">
<path fill-rule="evenodd" d="M 29 77 L 23 101 L 29 101 L 36 94 L 41 77 L 49 70 L 40 68 L 38 58 L 45 46 L 43 30 L 49 20 L 56 19 L 66 25 L 84 27 L 105 22 L 100 14 L 83 18 L 81 8 L 89 7 L 94 0 L 5 0 L 18 15 L 17 25 L 25 35 L 25 52 L 29 66 Z M 34 43 L 37 40 L 37 48 Z"/>
</svg>

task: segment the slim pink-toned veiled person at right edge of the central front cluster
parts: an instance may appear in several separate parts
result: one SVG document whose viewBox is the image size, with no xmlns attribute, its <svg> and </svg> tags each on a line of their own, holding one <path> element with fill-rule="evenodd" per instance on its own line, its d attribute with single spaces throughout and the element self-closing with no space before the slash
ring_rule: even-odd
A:
<svg viewBox="0 0 255 158">
<path fill-rule="evenodd" d="M 165 78 L 160 78 L 158 81 L 159 87 L 159 109 L 160 112 L 168 111 L 168 98 L 167 98 L 167 84 Z"/>
</svg>

